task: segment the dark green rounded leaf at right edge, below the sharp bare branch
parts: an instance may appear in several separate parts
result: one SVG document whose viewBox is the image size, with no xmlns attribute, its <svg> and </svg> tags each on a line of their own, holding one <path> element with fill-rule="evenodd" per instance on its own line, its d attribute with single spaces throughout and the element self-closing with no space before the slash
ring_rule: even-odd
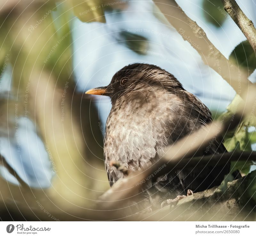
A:
<svg viewBox="0 0 256 237">
<path fill-rule="evenodd" d="M 252 74 L 256 68 L 255 52 L 248 40 L 245 40 L 236 46 L 230 54 L 229 60 L 239 67 L 242 66 L 246 69 L 248 68 L 250 74 Z"/>
</svg>

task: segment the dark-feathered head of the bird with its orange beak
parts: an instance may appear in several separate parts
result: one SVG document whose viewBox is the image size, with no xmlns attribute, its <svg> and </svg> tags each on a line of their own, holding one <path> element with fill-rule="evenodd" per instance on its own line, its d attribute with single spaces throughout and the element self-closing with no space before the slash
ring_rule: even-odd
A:
<svg viewBox="0 0 256 237">
<path fill-rule="evenodd" d="M 167 90 L 183 89 L 180 82 L 164 69 L 151 64 L 134 63 L 116 72 L 108 86 L 93 88 L 85 93 L 109 96 L 113 101 L 129 92 L 148 90 L 154 86 Z"/>
</svg>

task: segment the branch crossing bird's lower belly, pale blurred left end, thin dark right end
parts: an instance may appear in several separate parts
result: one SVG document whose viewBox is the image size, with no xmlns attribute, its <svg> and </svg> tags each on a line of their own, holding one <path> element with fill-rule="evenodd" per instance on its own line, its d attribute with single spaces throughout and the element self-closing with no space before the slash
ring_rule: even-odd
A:
<svg viewBox="0 0 256 237">
<path fill-rule="evenodd" d="M 156 181 L 156 179 L 163 174 L 174 172 L 175 170 L 186 169 L 186 167 L 189 167 L 189 170 L 202 169 L 205 165 L 220 165 L 238 160 L 256 160 L 256 152 L 226 152 L 223 154 L 211 154 L 203 157 L 193 157 L 181 160 L 166 159 L 166 157 L 164 157 L 147 170 L 133 172 L 126 178 L 118 180 L 112 188 L 101 196 L 100 207 L 102 209 L 110 210 L 127 203 L 129 199 L 135 199 L 142 192 L 142 187 L 149 178 Z"/>
</svg>

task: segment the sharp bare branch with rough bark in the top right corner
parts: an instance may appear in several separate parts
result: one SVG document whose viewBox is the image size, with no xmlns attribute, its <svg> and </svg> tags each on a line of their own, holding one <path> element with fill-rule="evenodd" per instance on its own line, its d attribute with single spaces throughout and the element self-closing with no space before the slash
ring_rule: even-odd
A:
<svg viewBox="0 0 256 237">
<path fill-rule="evenodd" d="M 248 42 L 251 44 L 254 52 L 256 52 L 256 29 L 253 26 L 252 21 L 248 19 L 235 0 L 221 1 L 224 5 L 225 11 L 228 12 L 229 16 L 234 20 L 236 25 L 247 38 Z"/>
</svg>

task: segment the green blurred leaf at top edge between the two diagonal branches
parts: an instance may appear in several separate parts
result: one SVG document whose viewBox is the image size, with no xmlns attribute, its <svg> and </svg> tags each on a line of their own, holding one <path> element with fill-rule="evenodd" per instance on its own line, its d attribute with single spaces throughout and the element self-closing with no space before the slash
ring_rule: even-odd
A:
<svg viewBox="0 0 256 237">
<path fill-rule="evenodd" d="M 205 19 L 216 27 L 221 27 L 226 20 L 227 12 L 223 8 L 221 0 L 204 0 L 203 14 Z"/>
</svg>

